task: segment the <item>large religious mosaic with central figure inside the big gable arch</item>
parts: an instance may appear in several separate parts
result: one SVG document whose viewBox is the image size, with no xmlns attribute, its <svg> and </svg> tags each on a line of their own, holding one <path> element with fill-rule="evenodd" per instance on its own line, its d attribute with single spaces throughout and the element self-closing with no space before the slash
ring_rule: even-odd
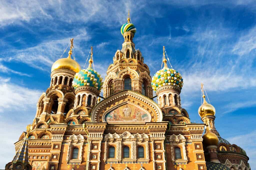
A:
<svg viewBox="0 0 256 170">
<path fill-rule="evenodd" d="M 126 104 L 105 115 L 106 122 L 150 122 L 151 116 L 140 108 Z"/>
</svg>

